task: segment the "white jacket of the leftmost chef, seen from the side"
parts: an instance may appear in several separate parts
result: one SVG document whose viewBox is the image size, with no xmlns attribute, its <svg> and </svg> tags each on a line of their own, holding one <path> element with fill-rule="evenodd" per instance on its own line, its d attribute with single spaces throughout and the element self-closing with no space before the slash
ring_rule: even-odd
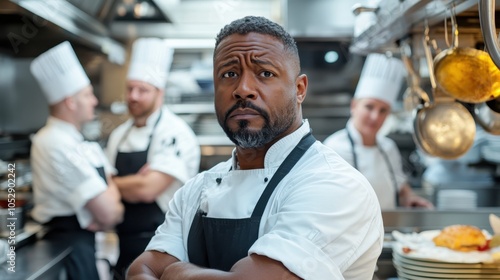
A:
<svg viewBox="0 0 500 280">
<path fill-rule="evenodd" d="M 97 172 L 113 172 L 99 144 L 84 141 L 76 127 L 49 117 L 32 140 L 33 218 L 41 223 L 76 214 L 82 228 L 92 221 L 85 204 L 104 192 L 107 184 Z"/>
</svg>

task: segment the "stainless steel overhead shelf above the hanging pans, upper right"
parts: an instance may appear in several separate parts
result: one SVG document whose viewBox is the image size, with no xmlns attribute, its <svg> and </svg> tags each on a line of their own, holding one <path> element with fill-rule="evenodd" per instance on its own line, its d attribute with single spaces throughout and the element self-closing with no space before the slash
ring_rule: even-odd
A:
<svg viewBox="0 0 500 280">
<path fill-rule="evenodd" d="M 449 17 L 454 5 L 455 13 L 477 6 L 478 0 L 404 0 L 393 8 L 379 9 L 377 23 L 354 38 L 350 51 L 357 54 L 372 52 L 398 52 L 397 41 L 408 34 L 423 34 L 424 22 L 429 26 Z"/>
</svg>

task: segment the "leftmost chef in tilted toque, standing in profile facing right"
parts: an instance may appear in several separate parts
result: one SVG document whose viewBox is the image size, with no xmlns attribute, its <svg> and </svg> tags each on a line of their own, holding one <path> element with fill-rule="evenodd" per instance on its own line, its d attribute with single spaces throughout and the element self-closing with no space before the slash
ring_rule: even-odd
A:
<svg viewBox="0 0 500 280">
<path fill-rule="evenodd" d="M 94 232 L 121 222 L 123 205 L 101 147 L 80 133 L 94 118 L 97 99 L 69 42 L 35 58 L 31 72 L 50 106 L 32 139 L 32 216 L 47 226 L 44 238 L 72 243 L 68 279 L 99 279 Z"/>
</svg>

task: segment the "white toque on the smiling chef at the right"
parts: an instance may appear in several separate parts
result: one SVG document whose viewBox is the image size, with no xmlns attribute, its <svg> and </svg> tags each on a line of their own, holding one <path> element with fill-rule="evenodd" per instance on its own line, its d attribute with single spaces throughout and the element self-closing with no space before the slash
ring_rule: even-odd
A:
<svg viewBox="0 0 500 280">
<path fill-rule="evenodd" d="M 354 98 L 375 98 L 393 105 L 401 90 L 406 69 L 395 57 L 372 53 L 366 57 Z"/>
</svg>

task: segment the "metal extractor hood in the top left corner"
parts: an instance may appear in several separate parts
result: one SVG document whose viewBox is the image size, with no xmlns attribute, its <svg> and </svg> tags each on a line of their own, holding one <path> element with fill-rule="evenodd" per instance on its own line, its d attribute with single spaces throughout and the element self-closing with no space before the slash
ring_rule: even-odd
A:
<svg viewBox="0 0 500 280">
<path fill-rule="evenodd" d="M 119 0 L 0 0 L 0 52 L 34 57 L 65 40 L 123 64 L 125 47 L 110 36 Z"/>
</svg>

